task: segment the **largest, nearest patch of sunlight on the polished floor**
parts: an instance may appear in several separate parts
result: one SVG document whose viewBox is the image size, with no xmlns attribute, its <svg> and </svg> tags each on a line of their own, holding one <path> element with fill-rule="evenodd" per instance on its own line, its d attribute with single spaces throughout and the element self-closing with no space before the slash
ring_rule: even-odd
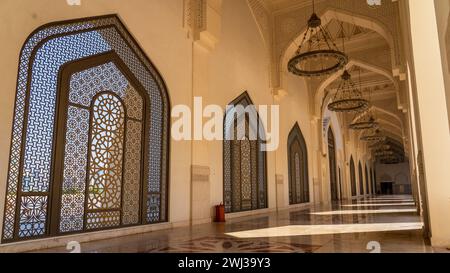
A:
<svg viewBox="0 0 450 273">
<path fill-rule="evenodd" d="M 420 230 L 423 223 L 383 223 L 383 224 L 347 224 L 347 225 L 290 225 L 283 227 L 254 229 L 226 233 L 238 238 L 288 237 L 329 235 L 345 233 L 384 232 L 399 230 Z"/>
</svg>

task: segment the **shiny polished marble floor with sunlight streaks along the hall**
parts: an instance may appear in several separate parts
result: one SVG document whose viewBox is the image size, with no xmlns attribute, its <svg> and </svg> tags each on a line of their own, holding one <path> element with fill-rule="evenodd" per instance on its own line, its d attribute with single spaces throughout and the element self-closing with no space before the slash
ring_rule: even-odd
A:
<svg viewBox="0 0 450 273">
<path fill-rule="evenodd" d="M 422 226 L 411 197 L 377 197 L 236 218 L 225 224 L 211 223 L 90 242 L 82 244 L 81 250 L 98 253 L 368 253 L 368 244 L 377 242 L 385 253 L 446 252 L 425 243 Z M 45 252 L 67 250 L 56 248 Z"/>
</svg>

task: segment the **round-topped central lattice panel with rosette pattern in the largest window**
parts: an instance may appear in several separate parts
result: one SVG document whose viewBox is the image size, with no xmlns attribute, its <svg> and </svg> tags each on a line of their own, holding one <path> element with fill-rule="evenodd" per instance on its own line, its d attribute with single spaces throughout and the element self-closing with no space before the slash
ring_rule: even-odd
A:
<svg viewBox="0 0 450 273">
<path fill-rule="evenodd" d="M 120 209 L 125 108 L 104 93 L 93 102 L 92 113 L 87 209 Z"/>
</svg>

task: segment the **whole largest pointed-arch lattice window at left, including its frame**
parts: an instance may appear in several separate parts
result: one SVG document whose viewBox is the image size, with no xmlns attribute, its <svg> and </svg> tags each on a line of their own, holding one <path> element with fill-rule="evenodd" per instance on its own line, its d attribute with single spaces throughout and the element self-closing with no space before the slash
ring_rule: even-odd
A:
<svg viewBox="0 0 450 273">
<path fill-rule="evenodd" d="M 34 31 L 20 56 L 3 241 L 167 221 L 169 109 L 115 15 Z"/>
</svg>

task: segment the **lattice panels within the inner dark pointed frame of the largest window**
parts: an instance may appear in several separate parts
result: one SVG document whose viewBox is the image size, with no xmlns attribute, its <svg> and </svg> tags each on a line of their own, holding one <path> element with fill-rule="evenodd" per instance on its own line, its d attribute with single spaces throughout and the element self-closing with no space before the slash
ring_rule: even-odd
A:
<svg viewBox="0 0 450 273">
<path fill-rule="evenodd" d="M 110 90 L 111 93 L 104 93 L 104 90 Z M 122 101 L 127 109 L 126 136 L 124 135 L 125 112 L 121 105 Z M 82 231 L 84 228 L 87 169 L 90 173 L 86 209 L 123 207 L 122 224 L 138 224 L 141 201 L 141 142 L 143 141 L 141 119 L 144 115 L 142 97 L 117 66 L 113 62 L 107 62 L 71 76 L 69 104 L 59 231 L 67 233 Z M 90 109 L 91 106 L 93 124 L 90 126 L 91 111 L 85 108 Z M 119 123 L 114 124 L 117 119 Z M 91 158 L 88 167 L 89 136 L 91 136 Z M 124 137 L 125 154 L 123 154 Z M 121 203 L 122 195 L 123 204 Z M 109 202 L 99 200 L 105 199 L 106 196 Z M 113 204 L 110 202 L 112 199 L 114 199 Z M 100 224 L 97 226 L 98 228 L 110 227 L 107 224 L 104 227 Z"/>
</svg>

